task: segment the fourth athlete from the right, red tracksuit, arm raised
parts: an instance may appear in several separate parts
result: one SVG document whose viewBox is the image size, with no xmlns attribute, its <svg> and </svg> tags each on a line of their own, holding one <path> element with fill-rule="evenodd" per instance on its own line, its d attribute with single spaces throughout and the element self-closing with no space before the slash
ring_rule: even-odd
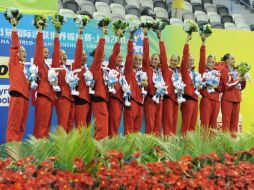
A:
<svg viewBox="0 0 254 190">
<path fill-rule="evenodd" d="M 180 73 L 177 64 L 180 62 L 179 56 L 172 55 L 170 58 L 170 68 L 168 67 L 166 48 L 163 41 L 160 41 L 161 70 L 164 81 L 167 85 L 168 95 L 163 98 L 162 123 L 164 135 L 176 134 L 178 118 L 178 102 L 173 85 L 172 76 Z"/>
</svg>

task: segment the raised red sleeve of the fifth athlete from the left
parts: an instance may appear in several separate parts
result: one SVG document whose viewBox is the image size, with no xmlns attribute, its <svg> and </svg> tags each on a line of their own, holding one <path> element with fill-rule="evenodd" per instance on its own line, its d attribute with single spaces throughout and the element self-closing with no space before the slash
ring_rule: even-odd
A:
<svg viewBox="0 0 254 190">
<path fill-rule="evenodd" d="M 93 63 L 91 65 L 91 71 L 93 73 L 101 69 L 101 64 L 102 64 L 103 55 L 104 55 L 104 45 L 105 45 L 105 39 L 101 38 L 96 48 Z"/>
</svg>

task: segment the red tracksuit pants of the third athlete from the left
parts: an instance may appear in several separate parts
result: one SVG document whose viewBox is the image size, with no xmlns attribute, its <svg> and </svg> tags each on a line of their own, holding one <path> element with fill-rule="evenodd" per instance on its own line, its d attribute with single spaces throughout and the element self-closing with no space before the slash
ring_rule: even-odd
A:
<svg viewBox="0 0 254 190">
<path fill-rule="evenodd" d="M 56 100 L 56 114 L 58 125 L 62 126 L 66 132 L 73 128 L 75 117 L 75 104 L 65 97 L 59 97 Z"/>
</svg>

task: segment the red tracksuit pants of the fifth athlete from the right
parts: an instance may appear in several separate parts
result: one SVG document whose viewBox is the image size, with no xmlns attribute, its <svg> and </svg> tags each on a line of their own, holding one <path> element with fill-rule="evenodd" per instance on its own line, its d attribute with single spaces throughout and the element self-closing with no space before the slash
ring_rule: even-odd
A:
<svg viewBox="0 0 254 190">
<path fill-rule="evenodd" d="M 147 96 L 144 102 L 144 114 L 146 134 L 159 136 L 161 133 L 162 100 L 156 104 L 151 97 Z"/>
</svg>

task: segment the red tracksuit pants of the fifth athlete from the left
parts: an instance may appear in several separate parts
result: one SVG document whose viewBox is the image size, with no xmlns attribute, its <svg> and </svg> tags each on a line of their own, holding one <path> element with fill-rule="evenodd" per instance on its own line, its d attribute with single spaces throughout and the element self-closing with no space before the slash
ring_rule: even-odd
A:
<svg viewBox="0 0 254 190">
<path fill-rule="evenodd" d="M 101 140 L 108 137 L 107 102 L 92 102 L 92 110 L 95 119 L 94 138 L 96 140 Z"/>
</svg>

